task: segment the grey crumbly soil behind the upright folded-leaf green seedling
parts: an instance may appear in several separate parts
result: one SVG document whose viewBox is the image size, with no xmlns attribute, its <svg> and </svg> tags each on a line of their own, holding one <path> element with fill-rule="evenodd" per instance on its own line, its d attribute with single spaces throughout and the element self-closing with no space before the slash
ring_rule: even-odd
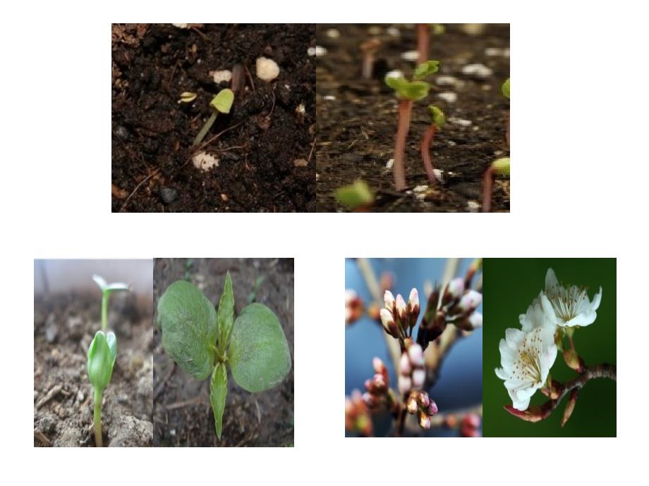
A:
<svg viewBox="0 0 649 486">
<path fill-rule="evenodd" d="M 54 294 L 34 301 L 34 445 L 95 446 L 93 390 L 87 349 L 102 328 L 97 294 Z M 104 447 L 153 444 L 153 332 L 151 313 L 135 296 L 111 295 L 109 330 L 117 359 L 104 390 Z"/>
</svg>

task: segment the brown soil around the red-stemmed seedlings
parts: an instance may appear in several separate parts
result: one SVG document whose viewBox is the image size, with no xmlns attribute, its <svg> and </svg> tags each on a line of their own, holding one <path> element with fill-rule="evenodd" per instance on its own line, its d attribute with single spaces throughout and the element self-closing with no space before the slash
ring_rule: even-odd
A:
<svg viewBox="0 0 649 486">
<path fill-rule="evenodd" d="M 441 61 L 441 68 L 428 79 L 429 96 L 413 107 L 406 142 L 408 189 L 402 194 L 394 189 L 392 170 L 386 167 L 394 158 L 397 105 L 384 75 L 400 69 L 411 78 L 415 62 L 404 61 L 401 54 L 417 49 L 414 27 L 317 25 L 317 44 L 327 49 L 317 58 L 316 69 L 317 211 L 343 210 L 336 204 L 334 189 L 358 179 L 375 192 L 370 211 L 479 210 L 485 170 L 495 158 L 509 156 L 505 139 L 509 100 L 501 93 L 502 82 L 509 77 L 509 25 L 487 24 L 474 35 L 464 32 L 461 24 L 444 26 L 444 34 L 431 36 L 428 54 Z M 339 37 L 332 37 L 331 29 Z M 370 29 L 377 32 L 370 35 Z M 379 37 L 382 45 L 373 78 L 363 80 L 358 46 L 370 37 Z M 487 66 L 492 73 L 484 78 L 463 74 L 463 66 L 469 64 Z M 455 93 L 456 101 L 444 101 L 439 97 L 444 92 Z M 432 144 L 432 163 L 444 171 L 443 183 L 425 187 L 429 183 L 420 143 L 430 126 L 429 104 L 442 108 L 447 123 Z M 463 125 L 466 121 L 471 125 Z M 496 177 L 492 211 L 509 211 L 509 178 Z"/>
</svg>

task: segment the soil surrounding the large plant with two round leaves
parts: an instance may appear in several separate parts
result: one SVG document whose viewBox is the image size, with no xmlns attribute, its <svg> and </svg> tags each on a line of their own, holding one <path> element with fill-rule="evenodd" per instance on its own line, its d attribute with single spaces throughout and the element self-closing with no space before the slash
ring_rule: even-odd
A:
<svg viewBox="0 0 649 486">
<path fill-rule="evenodd" d="M 218 305 L 226 272 L 232 278 L 236 314 L 248 305 L 257 278 L 256 300 L 277 314 L 293 360 L 292 259 L 157 259 L 154 305 L 176 280 L 190 280 Z M 214 430 L 210 380 L 197 381 L 169 358 L 162 333 L 154 331 L 154 445 L 198 447 L 293 446 L 293 366 L 277 387 L 250 393 L 228 370 L 228 393 L 221 440 Z"/>
</svg>

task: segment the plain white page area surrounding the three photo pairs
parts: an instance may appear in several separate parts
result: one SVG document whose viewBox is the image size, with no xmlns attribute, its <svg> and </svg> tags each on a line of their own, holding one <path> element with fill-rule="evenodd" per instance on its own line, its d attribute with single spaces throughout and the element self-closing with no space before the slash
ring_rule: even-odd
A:
<svg viewBox="0 0 649 486">
<path fill-rule="evenodd" d="M 3 482 L 590 485 L 646 477 L 649 111 L 641 2 L 413 4 L 1 7 Z M 172 20 L 511 23 L 511 214 L 109 213 L 110 23 Z M 475 254 L 618 258 L 617 439 L 344 438 L 344 256 Z M 296 258 L 294 449 L 32 447 L 33 258 L 152 256 Z"/>
</svg>

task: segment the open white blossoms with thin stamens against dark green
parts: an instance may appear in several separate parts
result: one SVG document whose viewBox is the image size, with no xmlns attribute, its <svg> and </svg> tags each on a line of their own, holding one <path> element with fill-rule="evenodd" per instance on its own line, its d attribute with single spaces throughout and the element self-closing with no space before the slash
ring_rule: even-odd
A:
<svg viewBox="0 0 649 486">
<path fill-rule="evenodd" d="M 559 285 L 554 270 L 547 270 L 545 291 L 518 317 L 521 329 L 509 328 L 500 339 L 502 368 L 496 368 L 496 375 L 504 380 L 515 409 L 527 410 L 532 395 L 545 385 L 557 359 L 557 328 L 592 324 L 601 300 L 602 287 L 590 301 L 586 289 Z"/>
</svg>

